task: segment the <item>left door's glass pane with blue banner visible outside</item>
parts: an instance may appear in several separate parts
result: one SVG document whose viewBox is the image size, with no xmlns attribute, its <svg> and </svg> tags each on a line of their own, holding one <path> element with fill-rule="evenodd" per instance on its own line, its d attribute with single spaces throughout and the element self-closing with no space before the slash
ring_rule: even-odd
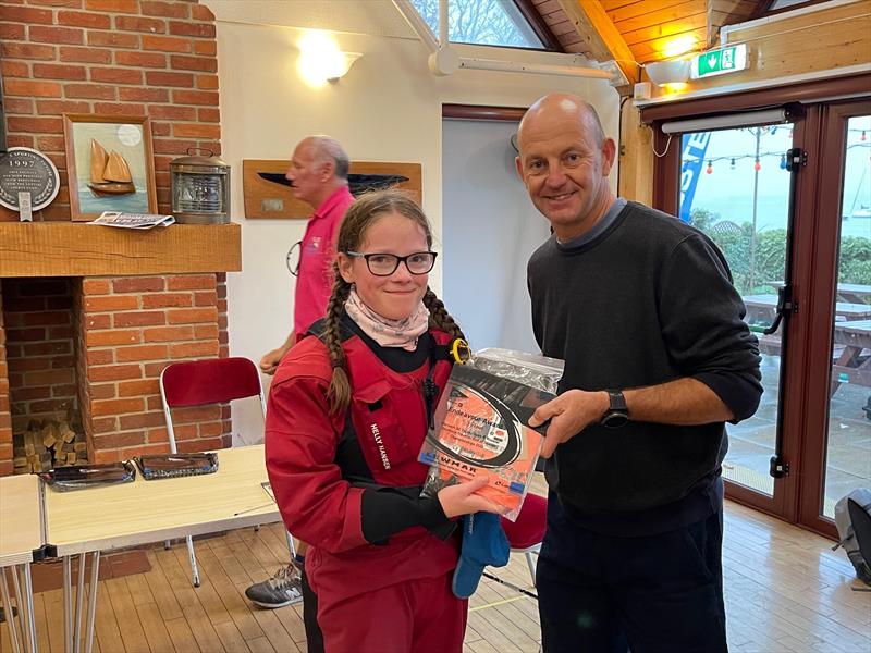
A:
<svg viewBox="0 0 871 653">
<path fill-rule="evenodd" d="M 682 136 L 679 218 L 725 255 L 760 342 L 764 393 L 752 418 L 727 426 L 723 477 L 761 503 L 775 492 L 770 465 L 777 449 L 785 322 L 771 328 L 786 279 L 793 128 L 786 123 Z"/>
</svg>

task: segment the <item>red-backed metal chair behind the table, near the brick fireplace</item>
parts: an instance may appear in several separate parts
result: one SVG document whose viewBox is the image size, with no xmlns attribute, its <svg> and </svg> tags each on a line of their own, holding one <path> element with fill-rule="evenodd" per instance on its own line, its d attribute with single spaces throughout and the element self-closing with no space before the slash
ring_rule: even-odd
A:
<svg viewBox="0 0 871 653">
<path fill-rule="evenodd" d="M 257 367 L 247 358 L 209 358 L 185 360 L 167 366 L 160 373 L 160 398 L 167 418 L 167 434 L 170 453 L 177 453 L 172 409 L 207 404 L 224 404 L 245 397 L 260 397 L 260 408 L 266 418 L 266 397 L 260 384 Z M 188 535 L 187 554 L 191 557 L 191 574 L 194 587 L 199 587 L 197 558 L 194 541 Z"/>
</svg>

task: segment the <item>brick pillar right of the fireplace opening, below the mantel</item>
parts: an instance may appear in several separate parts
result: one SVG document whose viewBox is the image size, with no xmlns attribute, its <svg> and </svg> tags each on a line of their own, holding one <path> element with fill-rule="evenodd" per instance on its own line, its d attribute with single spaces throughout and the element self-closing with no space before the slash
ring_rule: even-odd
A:
<svg viewBox="0 0 871 653">
<path fill-rule="evenodd" d="M 165 453 L 158 379 L 167 365 L 219 354 L 214 274 L 82 283 L 83 420 L 96 463 Z M 174 412 L 179 451 L 230 445 L 222 407 Z"/>
</svg>

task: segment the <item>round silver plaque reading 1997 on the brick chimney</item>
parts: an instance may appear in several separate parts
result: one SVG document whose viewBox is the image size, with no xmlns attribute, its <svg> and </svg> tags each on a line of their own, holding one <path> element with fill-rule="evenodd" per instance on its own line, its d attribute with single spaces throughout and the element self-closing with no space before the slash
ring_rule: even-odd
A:
<svg viewBox="0 0 871 653">
<path fill-rule="evenodd" d="M 61 177 L 51 159 L 29 147 L 0 153 L 0 205 L 30 221 L 58 196 Z"/>
</svg>

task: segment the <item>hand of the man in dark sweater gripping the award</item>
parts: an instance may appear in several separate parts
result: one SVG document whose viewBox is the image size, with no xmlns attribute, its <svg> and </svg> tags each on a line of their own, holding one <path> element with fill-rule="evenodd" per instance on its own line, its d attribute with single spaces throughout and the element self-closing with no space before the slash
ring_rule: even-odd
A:
<svg viewBox="0 0 871 653">
<path fill-rule="evenodd" d="M 541 446 L 541 457 L 550 458 L 557 445 L 571 440 L 591 423 L 597 423 L 610 406 L 608 393 L 568 390 L 555 399 L 536 408 L 529 418 L 530 427 L 550 420 Z"/>
</svg>

